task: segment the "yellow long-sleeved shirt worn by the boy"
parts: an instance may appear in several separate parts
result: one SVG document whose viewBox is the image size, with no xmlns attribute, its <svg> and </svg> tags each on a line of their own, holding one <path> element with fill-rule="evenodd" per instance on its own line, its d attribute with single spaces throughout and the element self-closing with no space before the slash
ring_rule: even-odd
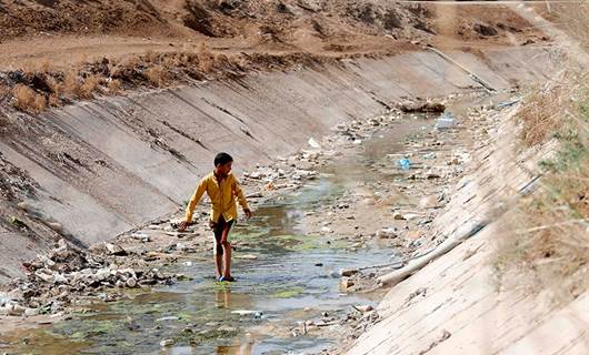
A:
<svg viewBox="0 0 589 355">
<path fill-rule="evenodd" d="M 192 214 L 197 203 L 202 197 L 202 194 L 207 192 L 211 200 L 211 221 L 219 221 L 219 216 L 222 215 L 226 221 L 237 220 L 237 204 L 236 196 L 239 200 L 239 204 L 243 210 L 248 210 L 248 202 L 243 195 L 243 191 L 239 186 L 238 181 L 233 174 L 229 173 L 227 178 L 221 180 L 221 183 L 217 181 L 214 172 L 211 172 L 207 176 L 202 178 L 197 190 L 192 194 L 190 202 L 186 209 L 184 221 L 192 221 Z"/>
</svg>

